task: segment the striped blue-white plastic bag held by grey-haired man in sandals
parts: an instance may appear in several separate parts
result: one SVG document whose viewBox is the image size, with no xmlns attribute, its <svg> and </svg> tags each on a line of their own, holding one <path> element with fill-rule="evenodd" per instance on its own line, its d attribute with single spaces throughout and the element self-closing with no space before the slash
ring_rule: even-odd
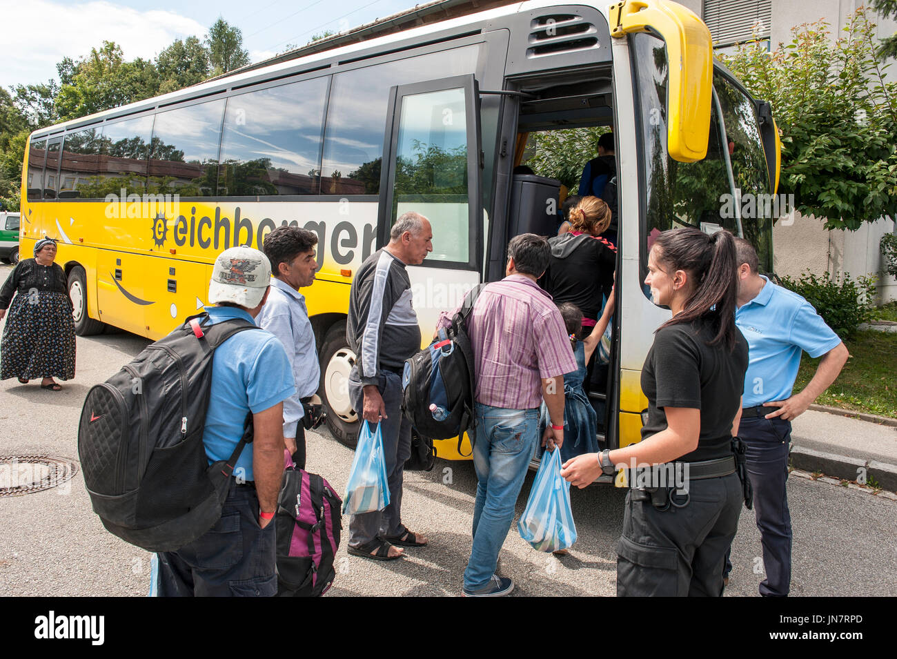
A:
<svg viewBox="0 0 897 659">
<path fill-rule="evenodd" d="M 349 473 L 349 481 L 345 487 L 343 514 L 373 513 L 388 505 L 387 463 L 383 455 L 380 424 L 377 424 L 376 432 L 371 433 L 370 426 L 365 421 L 358 433 L 352 472 Z"/>
</svg>

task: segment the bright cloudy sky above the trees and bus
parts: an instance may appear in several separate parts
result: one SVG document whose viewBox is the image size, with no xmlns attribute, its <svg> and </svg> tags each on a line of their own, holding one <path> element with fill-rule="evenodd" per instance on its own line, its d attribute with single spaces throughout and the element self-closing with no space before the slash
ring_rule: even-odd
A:
<svg viewBox="0 0 897 659">
<path fill-rule="evenodd" d="M 63 57 L 77 61 L 104 39 L 128 60 L 149 59 L 174 39 L 203 39 L 219 16 L 242 30 L 243 48 L 257 62 L 325 30 L 349 30 L 415 4 L 423 0 L 0 0 L 0 85 L 47 82 Z"/>
</svg>

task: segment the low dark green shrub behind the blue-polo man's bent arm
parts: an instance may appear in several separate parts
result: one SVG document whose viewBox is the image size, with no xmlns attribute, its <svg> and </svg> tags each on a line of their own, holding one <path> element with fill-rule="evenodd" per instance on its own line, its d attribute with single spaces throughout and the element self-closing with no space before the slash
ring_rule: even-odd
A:
<svg viewBox="0 0 897 659">
<path fill-rule="evenodd" d="M 860 323 L 867 320 L 875 299 L 875 277 L 851 279 L 849 274 L 832 277 L 831 273 L 816 276 L 806 272 L 795 281 L 782 277 L 781 284 L 806 299 L 826 325 L 842 339 L 852 336 Z"/>
</svg>

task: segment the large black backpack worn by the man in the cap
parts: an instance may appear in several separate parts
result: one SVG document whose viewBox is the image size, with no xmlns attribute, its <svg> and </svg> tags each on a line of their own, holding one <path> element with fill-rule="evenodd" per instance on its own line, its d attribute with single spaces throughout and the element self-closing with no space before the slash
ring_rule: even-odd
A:
<svg viewBox="0 0 897 659">
<path fill-rule="evenodd" d="M 233 465 L 252 441 L 252 414 L 227 461 L 203 445 L 215 349 L 258 329 L 194 316 L 101 385 L 78 426 L 78 456 L 93 512 L 110 533 L 147 551 L 177 551 L 218 521 Z"/>
</svg>

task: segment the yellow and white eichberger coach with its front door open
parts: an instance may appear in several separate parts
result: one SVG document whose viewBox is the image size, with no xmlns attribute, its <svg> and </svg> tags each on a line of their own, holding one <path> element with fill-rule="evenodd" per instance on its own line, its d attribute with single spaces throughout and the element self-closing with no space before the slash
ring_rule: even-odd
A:
<svg viewBox="0 0 897 659">
<path fill-rule="evenodd" d="M 22 250 L 59 239 L 78 333 L 114 325 L 157 339 L 203 308 L 223 249 L 261 247 L 283 224 L 312 230 L 319 270 L 303 292 L 319 391 L 351 446 L 349 287 L 396 217 L 414 209 L 433 227 L 433 253 L 408 268 L 429 337 L 441 310 L 501 279 L 509 238 L 556 232 L 558 181 L 512 174 L 527 135 L 613 126 L 618 299 L 610 377 L 594 395 L 605 446 L 638 441 L 640 369 L 669 317 L 642 286 L 653 236 L 724 227 L 771 270 L 772 220 L 741 204 L 778 183 L 769 104 L 713 62 L 707 27 L 673 2 L 473 5 L 425 4 L 31 134 Z M 465 448 L 436 442 L 448 459 Z"/>
</svg>

